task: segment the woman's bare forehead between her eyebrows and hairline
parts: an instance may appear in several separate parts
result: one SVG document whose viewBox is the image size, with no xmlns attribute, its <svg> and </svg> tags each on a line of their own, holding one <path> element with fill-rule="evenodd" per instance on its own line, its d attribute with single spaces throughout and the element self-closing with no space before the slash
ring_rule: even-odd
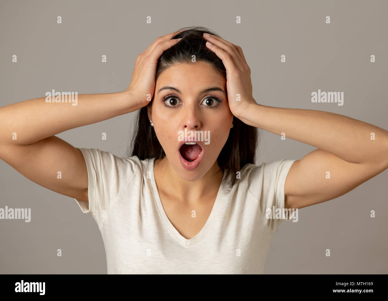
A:
<svg viewBox="0 0 388 301">
<path fill-rule="evenodd" d="M 219 85 L 224 87 L 226 80 L 215 72 L 210 63 L 198 61 L 190 64 L 174 64 L 163 71 L 156 81 L 157 89 L 164 85 L 177 87 L 184 93 L 197 91 L 203 87 Z"/>
</svg>

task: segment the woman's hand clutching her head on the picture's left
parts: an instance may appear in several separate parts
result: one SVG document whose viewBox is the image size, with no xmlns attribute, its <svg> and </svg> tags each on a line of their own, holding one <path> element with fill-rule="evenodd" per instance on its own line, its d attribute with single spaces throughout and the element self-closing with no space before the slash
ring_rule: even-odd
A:
<svg viewBox="0 0 388 301">
<path fill-rule="evenodd" d="M 149 104 L 154 96 L 156 66 L 158 64 L 158 59 L 166 49 L 175 45 L 178 40 L 180 40 L 170 40 L 171 37 L 177 33 L 178 31 L 174 31 L 168 35 L 158 37 L 137 57 L 135 61 L 135 68 L 133 68 L 131 84 L 124 91 L 124 93 L 128 94 L 128 97 L 132 97 L 129 101 L 136 103 L 136 110 Z M 151 96 L 147 96 L 148 94 Z"/>
</svg>

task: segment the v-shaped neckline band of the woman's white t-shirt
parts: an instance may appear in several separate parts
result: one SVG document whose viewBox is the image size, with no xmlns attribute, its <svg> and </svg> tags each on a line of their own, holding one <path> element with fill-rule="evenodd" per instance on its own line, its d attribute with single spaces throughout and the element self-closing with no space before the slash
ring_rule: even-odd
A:
<svg viewBox="0 0 388 301">
<path fill-rule="evenodd" d="M 206 221 L 205 225 L 203 226 L 201 231 L 199 231 L 199 233 L 197 233 L 196 236 L 194 236 L 193 238 L 187 239 L 187 238 L 183 237 L 178 232 L 177 229 L 175 229 L 175 227 L 173 226 L 173 224 L 171 224 L 170 220 L 168 219 L 168 217 L 166 215 L 166 212 L 165 212 L 163 205 L 162 205 L 162 202 L 160 200 L 158 188 L 156 186 L 155 175 L 154 175 L 154 163 L 155 163 L 155 158 L 150 158 L 148 160 L 148 168 L 147 169 L 148 169 L 148 171 L 151 171 L 152 176 L 150 177 L 149 181 L 151 183 L 152 195 L 154 196 L 154 200 L 155 200 L 156 205 L 158 207 L 160 217 L 162 218 L 164 224 L 166 225 L 168 230 L 170 230 L 172 235 L 174 235 L 175 238 L 177 238 L 177 240 L 179 240 L 185 247 L 190 247 L 190 246 L 196 244 L 197 242 L 199 242 L 202 238 L 205 237 L 206 233 L 208 233 L 211 222 L 213 221 L 214 216 L 217 214 L 218 203 L 220 202 L 221 198 L 223 197 L 223 192 L 225 189 L 225 182 L 223 181 L 223 179 L 225 177 L 226 172 L 225 171 L 223 172 L 222 182 L 221 182 L 220 188 L 218 189 L 217 197 L 216 197 L 216 200 L 214 202 L 213 208 L 211 209 L 208 220 Z"/>
</svg>

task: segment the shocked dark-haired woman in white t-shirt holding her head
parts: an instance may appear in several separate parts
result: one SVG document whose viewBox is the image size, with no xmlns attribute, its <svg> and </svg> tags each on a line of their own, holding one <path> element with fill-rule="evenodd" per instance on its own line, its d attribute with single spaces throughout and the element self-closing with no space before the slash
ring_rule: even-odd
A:
<svg viewBox="0 0 388 301">
<path fill-rule="evenodd" d="M 136 110 L 126 158 L 54 136 Z M 77 106 L 30 99 L 0 108 L 0 121 L 0 158 L 92 214 L 108 273 L 263 273 L 292 218 L 278 209 L 331 200 L 388 168 L 386 130 L 257 104 L 241 47 L 201 27 L 157 38 L 123 92 Z M 258 128 L 317 149 L 257 166 Z"/>
</svg>

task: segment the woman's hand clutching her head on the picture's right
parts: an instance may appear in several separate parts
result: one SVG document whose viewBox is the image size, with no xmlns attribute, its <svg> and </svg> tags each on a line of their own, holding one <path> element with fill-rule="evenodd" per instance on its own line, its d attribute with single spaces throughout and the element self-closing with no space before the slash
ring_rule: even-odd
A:
<svg viewBox="0 0 388 301">
<path fill-rule="evenodd" d="M 213 51 L 225 66 L 229 108 L 234 116 L 241 119 L 244 113 L 249 112 L 248 107 L 251 104 L 257 104 L 252 96 L 251 69 L 246 63 L 242 49 L 215 35 L 204 34 L 203 37 L 208 41 L 206 47 Z"/>
</svg>

